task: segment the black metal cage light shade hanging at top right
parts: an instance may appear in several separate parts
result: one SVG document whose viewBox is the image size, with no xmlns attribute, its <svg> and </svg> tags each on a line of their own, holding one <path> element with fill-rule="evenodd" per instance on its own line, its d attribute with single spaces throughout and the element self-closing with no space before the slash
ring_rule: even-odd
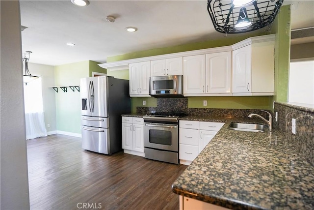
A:
<svg viewBox="0 0 314 210">
<path fill-rule="evenodd" d="M 244 33 L 270 27 L 284 0 L 208 0 L 207 10 L 215 30 Z M 243 24 L 249 22 L 249 24 Z M 237 25 L 242 23 L 241 25 Z"/>
</svg>

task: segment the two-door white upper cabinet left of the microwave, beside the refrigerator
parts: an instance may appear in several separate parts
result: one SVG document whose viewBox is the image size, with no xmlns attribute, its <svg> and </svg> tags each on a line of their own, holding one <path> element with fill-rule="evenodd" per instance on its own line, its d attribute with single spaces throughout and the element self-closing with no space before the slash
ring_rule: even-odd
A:
<svg viewBox="0 0 314 210">
<path fill-rule="evenodd" d="M 151 62 L 138 62 L 129 64 L 130 96 L 148 97 L 149 77 L 151 75 Z"/>
</svg>

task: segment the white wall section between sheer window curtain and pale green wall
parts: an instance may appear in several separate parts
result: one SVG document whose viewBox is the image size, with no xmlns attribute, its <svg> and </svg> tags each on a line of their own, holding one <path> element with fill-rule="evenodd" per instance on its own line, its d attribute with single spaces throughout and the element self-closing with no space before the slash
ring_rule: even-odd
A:
<svg viewBox="0 0 314 210">
<path fill-rule="evenodd" d="M 45 124 L 47 132 L 49 134 L 49 132 L 57 130 L 55 114 L 55 94 L 58 93 L 55 93 L 55 91 L 52 88 L 49 88 L 54 86 L 54 66 L 29 62 L 28 69 L 32 75 L 42 77 Z M 47 124 L 50 124 L 50 127 L 47 127 Z"/>
</svg>

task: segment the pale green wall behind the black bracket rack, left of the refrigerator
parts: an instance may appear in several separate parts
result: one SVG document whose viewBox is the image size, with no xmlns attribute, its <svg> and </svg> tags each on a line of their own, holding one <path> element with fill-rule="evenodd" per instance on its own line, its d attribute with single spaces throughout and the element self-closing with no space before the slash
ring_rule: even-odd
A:
<svg viewBox="0 0 314 210">
<path fill-rule="evenodd" d="M 55 86 L 79 86 L 80 78 L 89 76 L 89 61 L 69 63 L 54 67 Z M 55 93 L 57 130 L 81 133 L 80 94 L 68 89 Z"/>
</svg>

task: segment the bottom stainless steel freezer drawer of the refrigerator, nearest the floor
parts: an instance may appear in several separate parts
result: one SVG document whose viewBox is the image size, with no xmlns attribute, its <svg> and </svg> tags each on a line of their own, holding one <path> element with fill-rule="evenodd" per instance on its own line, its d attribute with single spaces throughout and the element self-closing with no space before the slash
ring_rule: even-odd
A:
<svg viewBox="0 0 314 210">
<path fill-rule="evenodd" d="M 82 125 L 82 148 L 103 154 L 111 154 L 109 128 Z"/>
</svg>

